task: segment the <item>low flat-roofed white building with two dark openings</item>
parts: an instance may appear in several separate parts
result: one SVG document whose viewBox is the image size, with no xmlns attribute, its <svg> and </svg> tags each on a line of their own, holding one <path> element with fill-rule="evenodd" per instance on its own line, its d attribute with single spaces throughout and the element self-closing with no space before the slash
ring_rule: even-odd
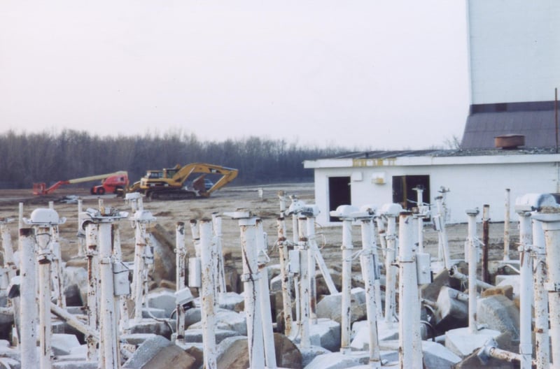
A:
<svg viewBox="0 0 560 369">
<path fill-rule="evenodd" d="M 448 222 L 464 223 L 465 210 L 490 205 L 490 217 L 503 222 L 505 191 L 510 189 L 511 217 L 515 198 L 527 193 L 558 193 L 560 154 L 554 150 L 426 150 L 361 152 L 332 159 L 304 161 L 314 169 L 318 222 L 335 224 L 330 210 L 338 205 L 378 206 L 401 203 L 412 208 L 416 185 L 423 202 L 434 203 L 440 189 L 449 189 Z M 435 211 L 435 208 L 433 208 Z"/>
</svg>

